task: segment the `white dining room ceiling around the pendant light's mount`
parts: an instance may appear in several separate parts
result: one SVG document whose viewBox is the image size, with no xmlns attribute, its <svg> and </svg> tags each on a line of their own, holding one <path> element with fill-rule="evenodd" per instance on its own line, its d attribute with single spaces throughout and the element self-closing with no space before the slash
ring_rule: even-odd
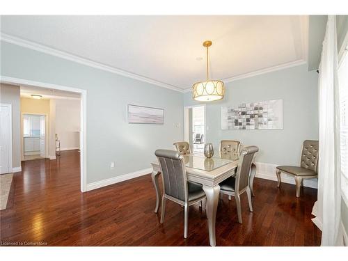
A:
<svg viewBox="0 0 348 261">
<path fill-rule="evenodd" d="M 179 90 L 306 61 L 308 16 L 1 16 L 1 33 Z"/>
</svg>

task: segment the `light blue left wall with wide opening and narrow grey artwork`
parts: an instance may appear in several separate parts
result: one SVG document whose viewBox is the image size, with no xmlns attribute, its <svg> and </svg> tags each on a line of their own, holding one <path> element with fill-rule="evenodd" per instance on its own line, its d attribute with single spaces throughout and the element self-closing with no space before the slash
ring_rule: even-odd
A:
<svg viewBox="0 0 348 261">
<path fill-rule="evenodd" d="M 7 42 L 1 42 L 1 75 L 87 90 L 87 183 L 150 168 L 157 148 L 182 139 L 182 93 L 174 90 Z M 128 124 L 127 104 L 163 108 L 164 125 Z"/>
</svg>

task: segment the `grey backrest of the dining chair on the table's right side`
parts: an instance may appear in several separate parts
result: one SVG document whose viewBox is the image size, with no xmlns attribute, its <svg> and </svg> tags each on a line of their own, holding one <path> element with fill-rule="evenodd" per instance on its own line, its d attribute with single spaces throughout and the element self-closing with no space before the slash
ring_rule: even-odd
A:
<svg viewBox="0 0 348 261">
<path fill-rule="evenodd" d="M 236 173 L 235 193 L 248 187 L 251 164 L 255 153 L 258 151 L 259 148 L 256 146 L 244 147 L 241 150 Z"/>
</svg>

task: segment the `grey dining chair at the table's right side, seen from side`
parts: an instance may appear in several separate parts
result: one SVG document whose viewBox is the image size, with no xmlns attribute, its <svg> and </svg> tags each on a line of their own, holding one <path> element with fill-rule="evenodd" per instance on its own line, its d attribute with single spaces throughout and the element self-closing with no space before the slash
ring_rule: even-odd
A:
<svg viewBox="0 0 348 261">
<path fill-rule="evenodd" d="M 237 214 L 239 223 L 242 221 L 242 207 L 240 203 L 240 195 L 246 192 L 248 195 L 248 204 L 250 212 L 253 212 L 253 205 L 251 203 L 251 190 L 249 187 L 249 175 L 251 173 L 251 164 L 253 163 L 253 157 L 259 148 L 256 146 L 248 146 L 241 150 L 237 173 L 235 177 L 228 177 L 220 183 L 220 193 L 227 194 L 228 196 L 234 196 L 237 204 Z"/>
</svg>

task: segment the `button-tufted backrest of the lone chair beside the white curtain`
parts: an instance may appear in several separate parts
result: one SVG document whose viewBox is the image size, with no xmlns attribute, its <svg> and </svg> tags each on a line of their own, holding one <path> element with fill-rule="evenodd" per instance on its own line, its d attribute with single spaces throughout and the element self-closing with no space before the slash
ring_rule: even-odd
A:
<svg viewBox="0 0 348 261">
<path fill-rule="evenodd" d="M 317 173 L 319 155 L 319 141 L 303 141 L 301 154 L 301 167 L 308 168 Z"/>
</svg>

